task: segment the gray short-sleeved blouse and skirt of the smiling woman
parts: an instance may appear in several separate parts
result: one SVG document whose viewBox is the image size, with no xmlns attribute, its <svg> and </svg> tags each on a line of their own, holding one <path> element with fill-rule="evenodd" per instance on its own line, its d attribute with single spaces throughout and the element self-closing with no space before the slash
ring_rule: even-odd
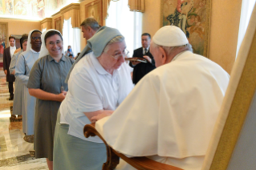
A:
<svg viewBox="0 0 256 170">
<path fill-rule="evenodd" d="M 50 55 L 35 62 L 30 73 L 28 88 L 42 89 L 53 94 L 67 91 L 65 79 L 74 59 L 63 56 L 59 63 Z M 35 157 L 53 160 L 53 140 L 60 102 L 36 99 L 35 109 Z"/>
</svg>

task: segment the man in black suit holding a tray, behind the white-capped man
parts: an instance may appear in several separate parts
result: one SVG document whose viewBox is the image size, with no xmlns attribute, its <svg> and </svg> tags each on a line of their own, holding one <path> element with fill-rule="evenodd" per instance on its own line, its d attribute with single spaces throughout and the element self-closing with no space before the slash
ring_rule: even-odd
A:
<svg viewBox="0 0 256 170">
<path fill-rule="evenodd" d="M 156 68 L 155 60 L 153 56 L 149 52 L 149 45 L 151 42 L 151 36 L 148 33 L 144 33 L 141 35 L 141 44 L 142 47 L 133 51 L 132 57 L 139 57 L 146 59 L 147 63 L 141 63 L 139 61 L 131 61 L 129 63 L 130 67 L 133 67 L 133 74 L 132 74 L 132 82 L 134 84 L 138 83 L 144 75 L 147 75 L 148 72 L 152 71 Z"/>
</svg>

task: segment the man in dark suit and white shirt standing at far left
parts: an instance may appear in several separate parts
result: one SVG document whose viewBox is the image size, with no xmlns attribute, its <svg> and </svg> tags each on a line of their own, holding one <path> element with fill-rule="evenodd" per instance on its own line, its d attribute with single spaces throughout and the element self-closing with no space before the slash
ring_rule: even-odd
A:
<svg viewBox="0 0 256 170">
<path fill-rule="evenodd" d="M 6 48 L 3 51 L 3 71 L 6 74 L 6 82 L 8 82 L 10 98 L 9 100 L 14 99 L 14 75 L 10 75 L 9 67 L 10 67 L 10 60 L 11 56 L 14 55 L 14 51 L 16 50 L 15 47 L 15 38 L 10 36 L 9 37 L 10 47 Z"/>
</svg>

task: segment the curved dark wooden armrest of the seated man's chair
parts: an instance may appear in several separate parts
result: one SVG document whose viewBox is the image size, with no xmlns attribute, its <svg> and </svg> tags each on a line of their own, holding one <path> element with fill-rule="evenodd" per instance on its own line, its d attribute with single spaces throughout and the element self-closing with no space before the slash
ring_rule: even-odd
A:
<svg viewBox="0 0 256 170">
<path fill-rule="evenodd" d="M 83 128 L 83 134 L 86 138 L 89 136 L 99 136 L 100 139 L 104 141 L 107 148 L 108 159 L 103 165 L 103 170 L 116 168 L 117 164 L 119 164 L 119 158 L 132 165 L 132 167 L 140 170 L 182 170 L 181 168 L 177 168 L 169 164 L 162 164 L 160 162 L 156 162 L 155 160 L 150 160 L 145 156 L 128 158 L 127 156 L 124 156 L 124 154 L 116 152 L 113 148 L 108 146 L 104 138 L 99 132 L 97 132 L 95 129 L 95 123 L 85 125 Z"/>
</svg>

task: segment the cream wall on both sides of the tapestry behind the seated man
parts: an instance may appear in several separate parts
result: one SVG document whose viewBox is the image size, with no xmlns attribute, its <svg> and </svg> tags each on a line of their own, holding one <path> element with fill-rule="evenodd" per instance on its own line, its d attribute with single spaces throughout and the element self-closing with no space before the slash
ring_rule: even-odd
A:
<svg viewBox="0 0 256 170">
<path fill-rule="evenodd" d="M 238 43 L 242 0 L 211 0 L 209 59 L 231 72 Z M 161 27 L 161 0 L 145 0 L 142 32 L 154 35 Z"/>
</svg>

